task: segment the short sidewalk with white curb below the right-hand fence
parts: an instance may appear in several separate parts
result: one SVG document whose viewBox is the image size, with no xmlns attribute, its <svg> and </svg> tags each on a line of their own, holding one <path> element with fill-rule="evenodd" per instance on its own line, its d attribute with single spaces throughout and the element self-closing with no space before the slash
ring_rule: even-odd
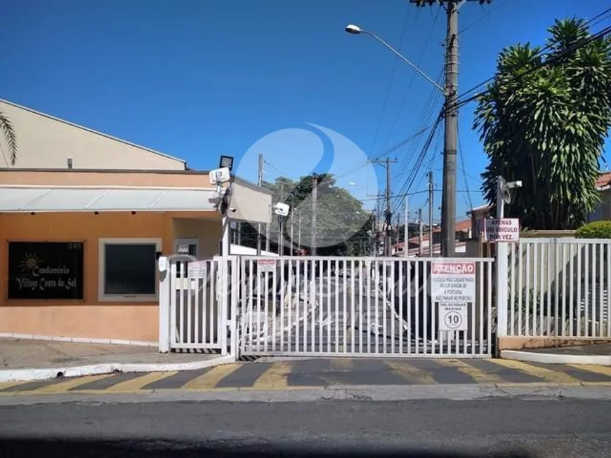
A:
<svg viewBox="0 0 611 458">
<path fill-rule="evenodd" d="M 531 363 L 611 366 L 611 344 L 558 346 L 548 349 L 502 350 L 501 358 Z"/>
</svg>

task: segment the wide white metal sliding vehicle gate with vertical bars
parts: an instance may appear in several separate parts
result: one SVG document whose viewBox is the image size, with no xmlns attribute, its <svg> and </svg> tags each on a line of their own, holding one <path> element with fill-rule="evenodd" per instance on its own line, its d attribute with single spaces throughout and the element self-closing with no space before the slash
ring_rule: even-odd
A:
<svg viewBox="0 0 611 458">
<path fill-rule="evenodd" d="M 254 356 L 485 358 L 492 353 L 491 259 L 475 264 L 466 330 L 439 330 L 431 263 L 441 258 L 242 257 L 239 353 Z"/>
</svg>

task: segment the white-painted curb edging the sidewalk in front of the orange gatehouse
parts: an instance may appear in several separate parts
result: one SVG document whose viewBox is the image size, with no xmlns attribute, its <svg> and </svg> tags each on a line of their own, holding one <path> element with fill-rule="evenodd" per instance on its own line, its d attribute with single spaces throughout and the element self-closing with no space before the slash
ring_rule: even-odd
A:
<svg viewBox="0 0 611 458">
<path fill-rule="evenodd" d="M 0 370 L 0 382 L 28 382 L 56 377 L 82 377 L 112 372 L 170 372 L 173 370 L 199 370 L 216 365 L 235 363 L 235 356 L 221 356 L 192 363 L 104 363 L 59 368 L 30 368 Z"/>
</svg>

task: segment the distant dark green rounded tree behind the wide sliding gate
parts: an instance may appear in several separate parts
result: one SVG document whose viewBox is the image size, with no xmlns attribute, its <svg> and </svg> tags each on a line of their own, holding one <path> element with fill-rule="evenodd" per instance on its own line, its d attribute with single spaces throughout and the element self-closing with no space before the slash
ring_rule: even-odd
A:
<svg viewBox="0 0 611 458">
<path fill-rule="evenodd" d="M 372 215 L 362 207 L 346 189 L 338 187 L 332 175 L 317 177 L 316 241 L 317 255 L 360 255 L 369 252 L 369 229 Z M 287 203 L 294 214 L 292 244 L 298 244 L 298 223 L 301 220 L 301 247 L 310 250 L 312 227 L 312 182 L 313 175 L 290 180 L 279 177 L 275 182 L 263 182 L 263 187 L 272 191 L 272 202 Z M 277 250 L 279 224 L 272 217 L 270 248 Z M 289 254 L 290 217 L 284 219 L 284 241 Z M 242 243 L 256 247 L 256 227 L 242 226 Z M 263 240 L 265 245 L 265 240 Z"/>
</svg>

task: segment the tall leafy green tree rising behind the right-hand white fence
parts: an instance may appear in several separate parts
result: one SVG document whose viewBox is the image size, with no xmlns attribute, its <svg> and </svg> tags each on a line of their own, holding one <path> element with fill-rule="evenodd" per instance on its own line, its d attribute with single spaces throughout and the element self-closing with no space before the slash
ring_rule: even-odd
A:
<svg viewBox="0 0 611 458">
<path fill-rule="evenodd" d="M 584 20 L 556 20 L 546 48 L 504 48 L 480 97 L 474 128 L 490 163 L 482 191 L 496 201 L 497 175 L 522 180 L 506 215 L 530 229 L 574 229 L 598 203 L 595 182 L 611 126 L 611 40 Z"/>
</svg>

